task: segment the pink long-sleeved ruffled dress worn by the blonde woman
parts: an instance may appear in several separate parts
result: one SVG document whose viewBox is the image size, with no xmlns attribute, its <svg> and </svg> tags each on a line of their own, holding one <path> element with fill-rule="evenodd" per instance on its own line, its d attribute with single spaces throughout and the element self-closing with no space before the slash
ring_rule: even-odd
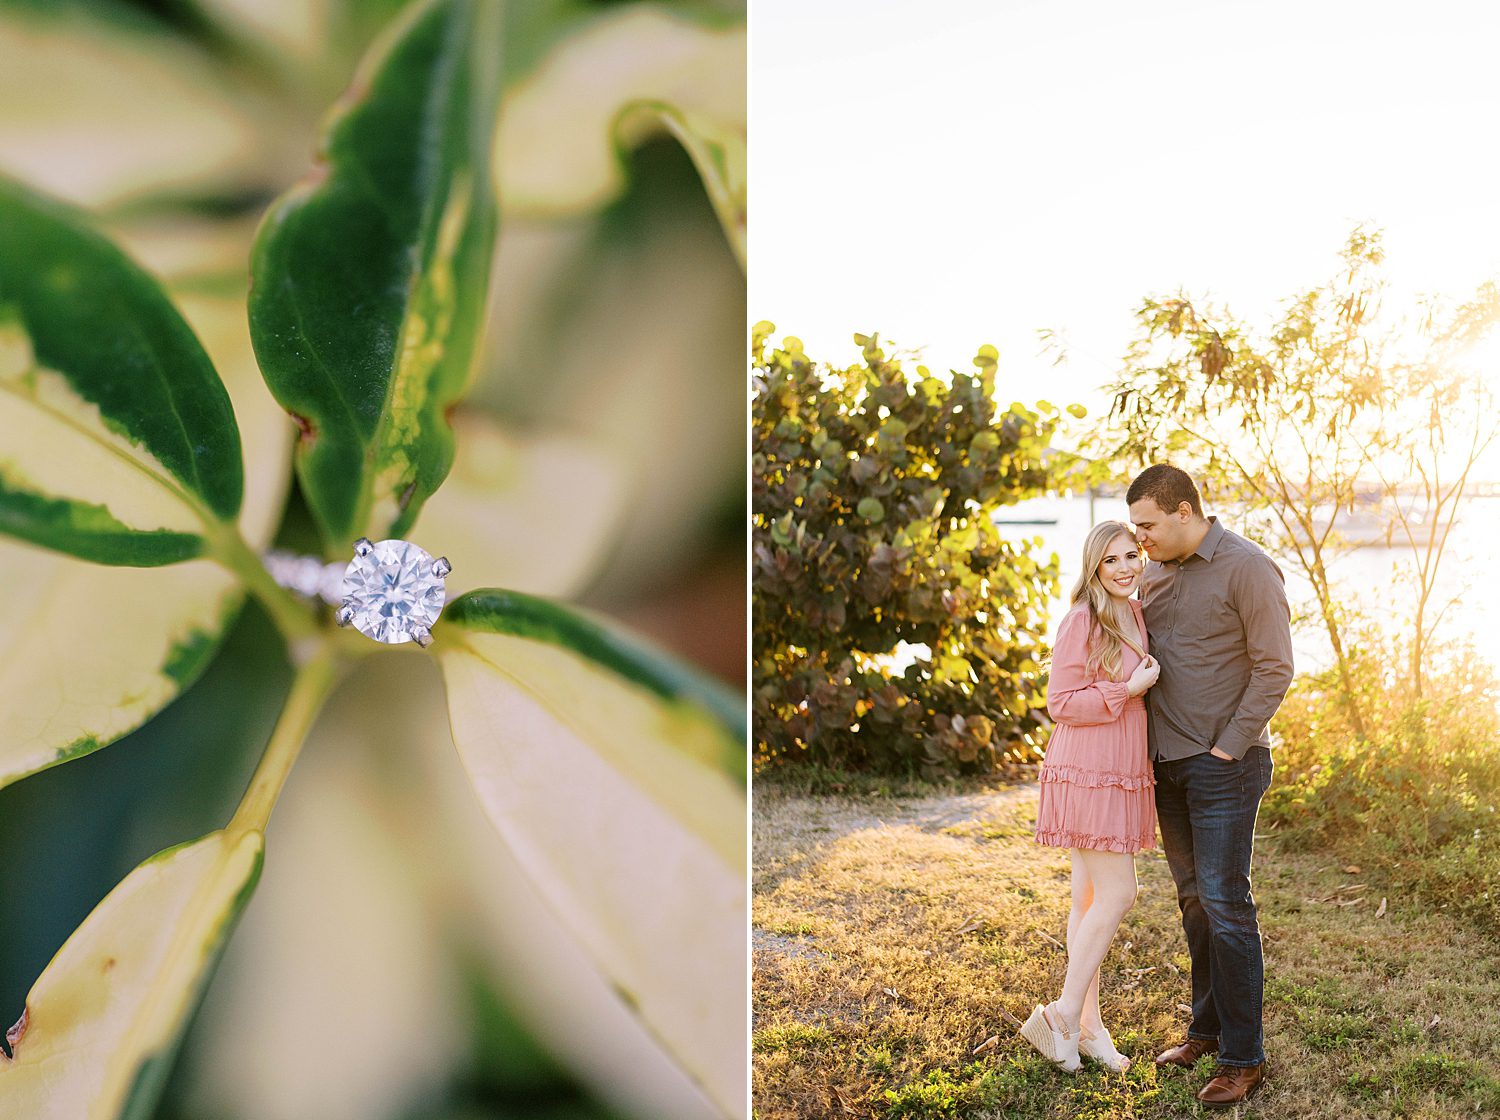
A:
<svg viewBox="0 0 1500 1120">
<path fill-rule="evenodd" d="M 1130 607 L 1148 648 L 1140 603 L 1130 600 Z M 1047 682 L 1047 712 L 1058 726 L 1038 775 L 1036 843 L 1140 852 L 1156 846 L 1146 702 L 1125 690 L 1142 658 L 1125 646 L 1119 681 L 1089 676 L 1089 625 L 1088 604 L 1076 606 L 1058 625 Z"/>
</svg>

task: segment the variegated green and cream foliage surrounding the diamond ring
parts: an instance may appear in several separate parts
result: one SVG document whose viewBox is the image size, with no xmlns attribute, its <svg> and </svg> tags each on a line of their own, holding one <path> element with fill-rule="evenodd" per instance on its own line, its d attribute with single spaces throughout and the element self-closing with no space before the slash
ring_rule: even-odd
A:
<svg viewBox="0 0 1500 1120">
<path fill-rule="evenodd" d="M 0 73 L 26 115 L 6 139 L 44 148 L 16 163 L 94 213 L 0 180 L 0 840 L 20 861 L 0 889 L 0 942 L 18 949 L 0 961 L 0 1014 L 20 1017 L 0 1039 L 0 1116 L 249 1117 L 296 1099 L 345 1120 L 742 1117 L 742 703 L 622 627 L 540 597 L 606 571 L 652 592 L 696 574 L 687 531 L 660 534 L 650 579 L 638 558 L 620 562 L 628 498 L 662 456 L 622 460 L 579 417 L 608 412 L 645 447 L 680 442 L 688 420 L 734 423 L 742 105 L 720 136 L 716 121 L 662 102 L 672 139 L 621 150 L 603 208 L 568 210 L 566 223 L 522 217 L 531 252 L 508 288 L 492 288 L 492 181 L 548 156 L 544 145 L 508 163 L 496 154 L 501 90 L 596 27 L 592 4 L 357 0 L 321 12 L 316 28 L 279 22 L 297 19 L 280 6 L 266 25 L 260 12 L 195 3 L 165 13 L 74 3 L 64 18 L 48 7 L 0 4 Z M 686 60 L 712 75 L 742 46 L 742 10 L 699 34 L 693 18 L 657 9 L 627 3 L 615 18 L 670 24 L 666 34 L 594 42 L 591 57 L 654 75 Z M 30 76 L 18 78 L 22 63 Z M 38 73 L 54 76 L 50 63 L 60 91 L 28 99 Z M 640 97 L 600 96 L 550 69 L 555 93 L 604 121 Z M 304 168 L 318 118 L 328 124 L 314 174 L 256 228 Z M 548 129 L 608 159 L 608 132 L 580 120 Z M 68 159 L 52 159 L 62 150 Z M 567 168 L 550 171 L 568 186 Z M 672 240 L 642 220 L 645 195 L 670 214 Z M 726 198 L 740 208 L 722 228 Z M 598 282 L 600 244 L 628 285 Z M 710 313 L 676 315 L 705 262 Z M 526 307 L 516 295 L 536 279 L 526 267 L 566 277 L 580 298 Z M 584 294 L 620 328 L 578 330 Z M 526 376 L 495 387 L 504 360 L 482 346 L 492 316 L 512 319 L 507 345 L 522 318 L 522 349 L 542 337 L 561 355 L 544 379 L 528 352 Z M 652 346 L 597 363 L 572 348 L 591 333 L 628 351 L 630 331 L 668 340 L 666 357 Z M 492 399 L 458 421 L 472 436 L 465 459 L 450 424 L 471 373 L 490 375 Z M 650 399 L 645 373 L 657 393 L 692 384 L 708 397 L 664 432 L 652 409 L 598 408 Z M 542 381 L 573 399 L 538 408 Z M 696 489 L 652 490 L 657 516 L 688 525 L 705 495 L 742 493 L 742 463 L 675 454 Z M 302 484 L 290 490 L 292 459 Z M 423 540 L 456 540 L 454 555 L 472 558 L 465 586 L 518 589 L 474 592 L 442 619 L 430 652 L 456 681 L 450 735 L 442 678 L 420 651 L 340 631 L 327 604 L 278 586 L 261 553 L 274 541 L 346 558 L 357 535 L 405 535 L 454 462 L 466 475 L 446 511 L 432 504 L 441 516 Z M 579 487 L 588 501 L 567 501 Z M 594 603 L 621 598 L 596 591 Z M 662 612 L 650 597 L 646 610 Z M 248 619 L 274 640 L 225 646 L 237 616 L 242 634 Z M 405 672 L 376 678 L 376 666 Z M 340 696 L 358 700 L 324 712 L 345 682 Z M 284 909 L 231 942 L 261 882 L 267 822 L 315 729 L 328 750 L 352 753 L 332 780 L 321 763 L 298 771 L 312 793 L 282 808 L 288 826 L 267 865 L 285 877 L 262 886 L 256 913 Z M 507 784 L 516 774 L 532 784 Z M 314 970 L 312 985 L 279 972 L 308 949 L 282 933 L 309 913 L 288 921 L 297 871 L 318 864 L 294 823 L 304 805 L 342 861 L 318 900 L 318 934 L 338 930 L 340 964 L 356 969 L 302 952 L 298 981 Z M 225 975 L 210 988 L 220 951 Z M 444 984 L 454 960 L 478 973 L 472 1003 Z M 363 978 L 380 1017 L 346 1006 L 366 996 L 348 981 L 362 961 L 380 963 Z M 249 1032 L 248 1048 L 237 1026 L 273 990 L 278 1023 Z M 234 1006 L 225 1018 L 220 1000 Z M 375 1023 L 387 1017 L 404 1032 Z M 324 1053 L 315 1033 L 330 1021 L 370 1033 Z"/>
</svg>

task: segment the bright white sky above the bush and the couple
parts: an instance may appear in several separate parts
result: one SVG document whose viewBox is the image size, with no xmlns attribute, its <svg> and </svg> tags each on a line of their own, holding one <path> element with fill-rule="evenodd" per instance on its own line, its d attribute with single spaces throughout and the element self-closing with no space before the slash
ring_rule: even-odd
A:
<svg viewBox="0 0 1500 1120">
<path fill-rule="evenodd" d="M 1442 0 L 753 0 L 752 319 L 838 364 L 854 331 L 939 369 L 992 342 L 1002 400 L 1096 411 L 1143 295 L 1262 319 L 1359 220 L 1407 294 L 1467 297 L 1500 277 L 1497 42 L 1500 6 Z"/>
</svg>

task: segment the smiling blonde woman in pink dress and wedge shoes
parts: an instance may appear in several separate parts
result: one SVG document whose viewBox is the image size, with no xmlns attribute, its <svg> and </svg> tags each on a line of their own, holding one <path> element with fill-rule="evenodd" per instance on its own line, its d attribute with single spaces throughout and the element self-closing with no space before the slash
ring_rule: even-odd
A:
<svg viewBox="0 0 1500 1120">
<path fill-rule="evenodd" d="M 1058 627 L 1047 712 L 1058 724 L 1041 765 L 1036 843 L 1072 853 L 1068 975 L 1022 1035 L 1072 1074 L 1078 1054 L 1124 1072 L 1130 1059 L 1100 1018 L 1100 964 L 1136 903 L 1136 852 L 1155 846 L 1146 705 L 1161 672 L 1131 598 L 1143 568 L 1126 525 L 1102 522 L 1083 543 L 1083 574 Z"/>
</svg>

